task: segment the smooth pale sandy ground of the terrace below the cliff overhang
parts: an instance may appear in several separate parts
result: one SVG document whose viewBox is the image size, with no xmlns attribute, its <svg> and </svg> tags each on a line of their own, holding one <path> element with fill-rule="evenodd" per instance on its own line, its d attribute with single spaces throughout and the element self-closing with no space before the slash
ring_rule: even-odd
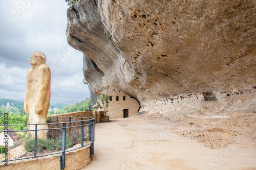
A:
<svg viewBox="0 0 256 170">
<path fill-rule="evenodd" d="M 219 127 L 230 129 L 224 132 L 230 132 L 236 140 L 211 149 L 203 142 L 176 134 L 206 128 L 187 127 L 168 120 L 130 117 L 95 124 L 95 127 L 92 162 L 82 170 L 256 169 L 256 143 L 252 140 L 255 136 L 245 129 Z"/>
</svg>

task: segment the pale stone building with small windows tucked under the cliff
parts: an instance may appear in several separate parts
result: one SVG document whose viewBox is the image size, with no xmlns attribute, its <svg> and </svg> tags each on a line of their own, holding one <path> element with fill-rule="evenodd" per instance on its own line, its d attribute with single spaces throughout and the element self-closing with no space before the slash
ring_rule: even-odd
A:
<svg viewBox="0 0 256 170">
<path fill-rule="evenodd" d="M 110 96 L 110 103 L 107 110 L 107 115 L 109 115 L 110 118 L 131 117 L 139 111 L 139 102 L 130 95 L 118 90 L 116 87 L 108 87 L 105 92 L 108 92 Z M 103 111 L 103 109 L 97 111 Z"/>
</svg>

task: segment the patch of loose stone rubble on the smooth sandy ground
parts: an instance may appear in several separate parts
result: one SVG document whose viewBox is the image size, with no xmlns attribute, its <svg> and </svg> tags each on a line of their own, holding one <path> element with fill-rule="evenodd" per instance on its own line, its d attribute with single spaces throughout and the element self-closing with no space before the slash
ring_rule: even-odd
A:
<svg viewBox="0 0 256 170">
<path fill-rule="evenodd" d="M 230 144 L 238 143 L 237 135 L 242 135 L 236 131 L 221 128 L 197 129 L 175 132 L 180 136 L 196 139 L 200 143 L 204 143 L 205 147 L 215 149 L 227 147 Z"/>
</svg>

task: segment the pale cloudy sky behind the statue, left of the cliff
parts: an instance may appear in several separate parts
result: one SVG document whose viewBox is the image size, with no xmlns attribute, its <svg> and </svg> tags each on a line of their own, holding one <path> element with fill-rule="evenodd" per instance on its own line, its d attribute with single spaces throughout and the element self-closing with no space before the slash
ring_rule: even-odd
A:
<svg viewBox="0 0 256 170">
<path fill-rule="evenodd" d="M 51 103 L 74 104 L 90 96 L 82 83 L 82 53 L 66 38 L 65 0 L 0 1 L 0 99 L 25 99 L 26 71 L 35 51 L 51 69 Z"/>
</svg>

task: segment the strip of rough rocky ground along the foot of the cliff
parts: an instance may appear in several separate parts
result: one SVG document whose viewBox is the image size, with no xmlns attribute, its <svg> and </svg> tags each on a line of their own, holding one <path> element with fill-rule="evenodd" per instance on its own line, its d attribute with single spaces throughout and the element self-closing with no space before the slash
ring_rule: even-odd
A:
<svg viewBox="0 0 256 170">
<path fill-rule="evenodd" d="M 166 115 L 160 113 L 144 113 L 141 115 L 141 118 L 169 120 L 170 122 L 176 122 L 185 127 L 204 129 L 215 127 L 234 127 L 247 130 L 256 135 L 256 111 L 215 113 L 214 115 L 202 113 L 170 113 Z"/>
</svg>

